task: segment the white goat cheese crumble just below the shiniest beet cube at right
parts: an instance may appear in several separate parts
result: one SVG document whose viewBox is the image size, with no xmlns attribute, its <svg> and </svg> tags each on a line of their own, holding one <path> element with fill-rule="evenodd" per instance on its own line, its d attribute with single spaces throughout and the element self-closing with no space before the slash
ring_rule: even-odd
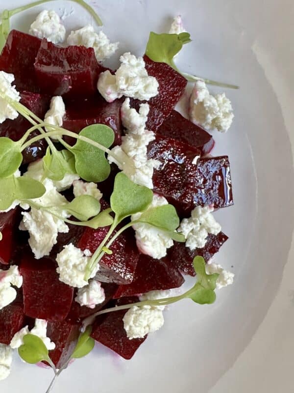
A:
<svg viewBox="0 0 294 393">
<path fill-rule="evenodd" d="M 178 227 L 178 232 L 185 236 L 186 247 L 191 251 L 202 249 L 209 233 L 217 235 L 221 232 L 221 225 L 211 214 L 213 210 L 212 206 L 196 206 L 191 212 L 191 217 L 184 218 Z"/>
</svg>

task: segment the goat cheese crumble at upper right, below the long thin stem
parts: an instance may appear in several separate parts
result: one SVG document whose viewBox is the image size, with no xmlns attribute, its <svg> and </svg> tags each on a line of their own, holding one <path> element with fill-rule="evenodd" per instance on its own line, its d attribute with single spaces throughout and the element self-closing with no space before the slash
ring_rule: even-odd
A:
<svg viewBox="0 0 294 393">
<path fill-rule="evenodd" d="M 226 132 L 233 121 L 231 101 L 224 93 L 210 95 L 202 81 L 197 81 L 190 98 L 189 114 L 193 123 L 206 130 Z"/>
</svg>

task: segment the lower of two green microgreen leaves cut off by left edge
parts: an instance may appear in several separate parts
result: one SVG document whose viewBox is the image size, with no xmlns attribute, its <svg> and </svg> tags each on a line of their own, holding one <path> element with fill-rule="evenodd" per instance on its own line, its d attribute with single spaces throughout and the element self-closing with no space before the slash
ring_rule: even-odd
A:
<svg viewBox="0 0 294 393">
<path fill-rule="evenodd" d="M 46 188 L 28 176 L 0 179 L 0 210 L 6 210 L 15 200 L 42 197 Z"/>
</svg>

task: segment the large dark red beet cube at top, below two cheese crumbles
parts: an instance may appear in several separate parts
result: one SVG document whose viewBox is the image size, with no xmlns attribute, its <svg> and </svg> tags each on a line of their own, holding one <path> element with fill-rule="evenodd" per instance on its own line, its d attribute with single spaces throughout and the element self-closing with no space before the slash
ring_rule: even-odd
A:
<svg viewBox="0 0 294 393">
<path fill-rule="evenodd" d="M 98 75 L 103 70 L 93 48 L 62 48 L 42 40 L 35 71 L 43 93 L 88 96 L 97 91 Z"/>
</svg>

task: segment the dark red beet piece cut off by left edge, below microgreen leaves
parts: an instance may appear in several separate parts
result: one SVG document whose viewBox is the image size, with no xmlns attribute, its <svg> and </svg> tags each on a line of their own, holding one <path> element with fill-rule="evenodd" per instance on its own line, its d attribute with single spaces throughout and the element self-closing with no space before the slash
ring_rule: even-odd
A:
<svg viewBox="0 0 294 393">
<path fill-rule="evenodd" d="M 16 246 L 16 231 L 21 221 L 20 210 L 18 208 L 9 210 L 7 213 L 0 213 L 0 263 L 8 264 L 12 258 Z"/>
</svg>

